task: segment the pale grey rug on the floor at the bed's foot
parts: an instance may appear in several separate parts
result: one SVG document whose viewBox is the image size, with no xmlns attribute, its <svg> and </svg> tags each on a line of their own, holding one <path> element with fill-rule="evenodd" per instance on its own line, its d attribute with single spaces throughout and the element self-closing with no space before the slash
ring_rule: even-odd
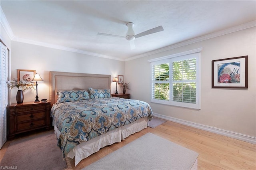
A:
<svg viewBox="0 0 256 170">
<path fill-rule="evenodd" d="M 198 153 L 147 133 L 82 170 L 190 170 Z"/>
</svg>

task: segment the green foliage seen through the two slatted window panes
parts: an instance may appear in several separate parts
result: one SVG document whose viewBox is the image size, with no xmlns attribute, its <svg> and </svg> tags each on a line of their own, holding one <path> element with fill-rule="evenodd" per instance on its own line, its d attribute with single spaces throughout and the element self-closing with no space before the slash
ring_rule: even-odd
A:
<svg viewBox="0 0 256 170">
<path fill-rule="evenodd" d="M 170 99 L 169 69 L 169 63 L 154 65 L 154 99 Z M 196 59 L 172 62 L 172 101 L 196 103 Z"/>
</svg>

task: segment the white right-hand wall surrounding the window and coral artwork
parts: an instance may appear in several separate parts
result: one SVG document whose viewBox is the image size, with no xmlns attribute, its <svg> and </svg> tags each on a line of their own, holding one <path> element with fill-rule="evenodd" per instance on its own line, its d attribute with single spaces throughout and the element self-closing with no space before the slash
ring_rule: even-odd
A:
<svg viewBox="0 0 256 170">
<path fill-rule="evenodd" d="M 256 28 L 234 32 L 125 62 L 132 99 L 148 102 L 154 113 L 187 122 L 256 136 Z M 203 47 L 201 110 L 150 103 L 150 63 L 154 59 Z M 248 55 L 248 89 L 212 88 L 212 60 Z"/>
</svg>

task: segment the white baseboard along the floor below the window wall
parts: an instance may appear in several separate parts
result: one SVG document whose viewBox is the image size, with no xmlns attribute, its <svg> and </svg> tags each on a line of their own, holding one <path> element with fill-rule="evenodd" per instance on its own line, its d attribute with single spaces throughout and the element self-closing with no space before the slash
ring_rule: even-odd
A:
<svg viewBox="0 0 256 170">
<path fill-rule="evenodd" d="M 232 132 L 232 131 L 224 130 L 224 129 L 221 129 L 221 128 L 216 128 L 216 127 L 211 127 L 211 126 L 207 126 L 207 125 L 202 125 L 202 124 L 199 124 L 199 123 L 185 121 L 185 120 L 182 120 L 182 119 L 177 119 L 177 118 L 174 118 L 174 117 L 164 116 L 164 115 L 160 115 L 160 114 L 157 114 L 157 113 L 154 113 L 154 117 L 158 117 L 158 118 L 165 119 L 165 120 L 168 120 L 168 121 L 180 123 L 182 125 L 187 125 L 187 126 L 190 126 L 190 127 L 206 130 L 208 132 L 213 132 L 213 133 L 216 133 L 216 134 L 221 134 L 221 135 L 224 135 L 224 136 L 228 136 L 228 137 L 231 137 L 231 138 L 235 138 L 235 139 L 238 139 L 238 140 L 243 140 L 243 141 L 246 141 L 246 142 L 249 142 L 249 143 L 252 143 L 252 144 L 256 144 L 256 137 L 254 137 L 254 136 L 249 136 L 249 135 L 246 135 L 246 134 Z"/>
</svg>

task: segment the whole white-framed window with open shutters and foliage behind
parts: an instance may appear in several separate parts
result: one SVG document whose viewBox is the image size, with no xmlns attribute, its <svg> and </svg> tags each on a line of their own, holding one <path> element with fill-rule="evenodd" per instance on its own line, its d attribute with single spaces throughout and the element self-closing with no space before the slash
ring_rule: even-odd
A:
<svg viewBox="0 0 256 170">
<path fill-rule="evenodd" d="M 150 60 L 151 102 L 200 109 L 200 52 L 196 50 Z"/>
</svg>

